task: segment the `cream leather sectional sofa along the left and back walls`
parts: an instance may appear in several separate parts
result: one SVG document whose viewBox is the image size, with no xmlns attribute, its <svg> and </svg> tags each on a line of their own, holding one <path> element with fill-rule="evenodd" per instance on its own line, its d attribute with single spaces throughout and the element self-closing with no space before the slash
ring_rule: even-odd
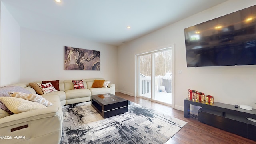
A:
<svg viewBox="0 0 256 144">
<path fill-rule="evenodd" d="M 74 89 L 72 80 L 60 80 L 60 91 L 41 95 L 53 104 L 46 108 L 12 115 L 0 109 L 0 136 L 4 136 L 0 138 L 0 144 L 59 144 L 62 136 L 62 106 L 90 101 L 90 96 L 96 94 L 115 94 L 115 84 L 110 83 L 107 88 L 92 88 L 96 79 L 84 79 L 82 89 Z M 36 93 L 29 83 L 14 86 Z"/>
</svg>

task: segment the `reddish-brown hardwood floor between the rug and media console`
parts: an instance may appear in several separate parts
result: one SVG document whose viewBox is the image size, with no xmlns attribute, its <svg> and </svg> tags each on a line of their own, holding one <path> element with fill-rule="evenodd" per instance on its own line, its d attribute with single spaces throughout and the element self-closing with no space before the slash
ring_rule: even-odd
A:
<svg viewBox="0 0 256 144">
<path fill-rule="evenodd" d="M 165 144 L 256 144 L 256 141 L 203 124 L 196 119 L 196 116 L 194 116 L 195 118 L 192 118 L 192 116 L 190 118 L 184 118 L 183 111 L 173 109 L 170 106 L 120 92 L 116 92 L 116 96 L 188 122 L 188 124 Z"/>
</svg>

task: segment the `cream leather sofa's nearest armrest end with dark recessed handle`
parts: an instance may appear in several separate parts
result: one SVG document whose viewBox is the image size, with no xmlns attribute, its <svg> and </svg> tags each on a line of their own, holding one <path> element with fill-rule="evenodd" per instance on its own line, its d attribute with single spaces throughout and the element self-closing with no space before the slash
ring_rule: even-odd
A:
<svg viewBox="0 0 256 144">
<path fill-rule="evenodd" d="M 62 134 L 63 113 L 60 102 L 47 108 L 31 110 L 0 118 L 0 140 L 5 144 L 58 144 Z M 20 138 L 15 138 L 20 136 Z"/>
</svg>

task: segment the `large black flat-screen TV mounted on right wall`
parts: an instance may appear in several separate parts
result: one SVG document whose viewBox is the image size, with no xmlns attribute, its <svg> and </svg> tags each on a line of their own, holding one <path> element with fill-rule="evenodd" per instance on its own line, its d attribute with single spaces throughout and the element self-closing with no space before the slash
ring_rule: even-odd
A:
<svg viewBox="0 0 256 144">
<path fill-rule="evenodd" d="M 256 64 L 256 5 L 184 31 L 187 67 Z"/>
</svg>

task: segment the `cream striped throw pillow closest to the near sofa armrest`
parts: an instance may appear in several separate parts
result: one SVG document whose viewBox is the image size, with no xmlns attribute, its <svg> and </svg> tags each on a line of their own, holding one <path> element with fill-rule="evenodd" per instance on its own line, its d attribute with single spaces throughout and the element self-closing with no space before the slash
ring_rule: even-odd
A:
<svg viewBox="0 0 256 144">
<path fill-rule="evenodd" d="M 10 96 L 0 97 L 0 101 L 4 103 L 6 107 L 14 114 L 18 114 L 20 112 L 26 112 L 30 110 L 46 108 L 46 106 L 42 104 L 38 104 L 36 102 L 31 102 L 29 100 L 24 100 L 22 98 L 15 98 Z"/>
</svg>

